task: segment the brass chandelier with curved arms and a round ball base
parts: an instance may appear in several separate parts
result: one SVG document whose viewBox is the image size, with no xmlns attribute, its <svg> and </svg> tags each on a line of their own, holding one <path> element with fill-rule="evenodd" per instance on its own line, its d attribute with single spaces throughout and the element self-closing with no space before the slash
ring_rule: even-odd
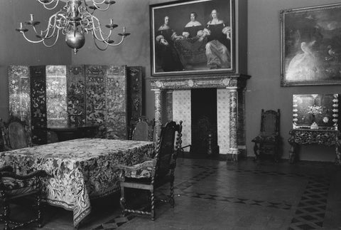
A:
<svg viewBox="0 0 341 230">
<path fill-rule="evenodd" d="M 123 33 L 118 33 L 121 36 L 119 42 L 115 43 L 112 39 L 112 30 L 117 27 L 117 24 L 113 23 L 113 19 L 110 19 L 110 23 L 107 24 L 107 33 L 102 30 L 101 23 L 94 11 L 107 11 L 115 1 L 112 0 L 37 0 L 40 4 L 43 4 L 45 9 L 53 10 L 58 6 L 59 1 L 66 1 L 63 9 L 50 16 L 48 19 L 48 26 L 45 30 L 38 32 L 37 25 L 40 21 L 31 19 L 20 23 L 20 27 L 16 28 L 16 31 L 23 34 L 23 37 L 31 43 L 43 43 L 46 47 L 52 47 L 57 43 L 60 33 L 65 35 L 65 42 L 67 46 L 73 49 L 76 54 L 78 49 L 82 48 L 85 44 L 85 33 L 92 34 L 94 44 L 99 50 L 104 51 L 108 46 L 119 46 L 126 36 L 130 33 L 126 33 L 126 28 L 123 27 Z M 91 5 L 90 5 L 91 4 Z M 31 40 L 26 36 L 28 28 L 25 25 L 31 26 L 34 33 L 36 33 L 36 41 Z"/>
</svg>

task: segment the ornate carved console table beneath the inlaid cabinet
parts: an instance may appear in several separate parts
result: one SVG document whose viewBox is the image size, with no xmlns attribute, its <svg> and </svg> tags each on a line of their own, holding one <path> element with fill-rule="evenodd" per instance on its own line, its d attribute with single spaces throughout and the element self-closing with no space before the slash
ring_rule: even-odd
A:
<svg viewBox="0 0 341 230">
<path fill-rule="evenodd" d="M 341 165 L 340 154 L 340 131 L 338 130 L 310 130 L 310 129 L 293 129 L 290 130 L 291 137 L 288 139 L 291 145 L 289 151 L 290 162 L 293 163 L 297 157 L 296 147 L 297 145 L 335 145 L 335 164 Z"/>
</svg>

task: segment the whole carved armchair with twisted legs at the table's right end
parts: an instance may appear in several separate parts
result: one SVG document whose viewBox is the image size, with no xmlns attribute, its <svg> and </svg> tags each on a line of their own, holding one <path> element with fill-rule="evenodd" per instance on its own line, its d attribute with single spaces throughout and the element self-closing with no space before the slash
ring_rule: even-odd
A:
<svg viewBox="0 0 341 230">
<path fill-rule="evenodd" d="M 121 207 L 125 216 L 128 213 L 150 215 L 151 219 L 155 219 L 155 196 L 156 187 L 162 183 L 170 182 L 171 192 L 168 199 L 160 199 L 161 202 L 169 202 L 174 207 L 174 171 L 176 166 L 176 158 L 181 149 L 181 131 L 182 121 L 177 125 L 175 122 L 168 122 L 161 128 L 161 135 L 158 137 L 156 145 L 156 154 L 153 158 L 136 164 L 133 166 L 119 165 L 121 169 Z M 175 132 L 178 132 L 174 149 Z M 151 192 L 150 207 L 145 209 L 128 209 L 126 208 L 126 199 L 124 192 L 126 188 L 143 189 Z M 150 211 L 148 211 L 150 210 Z"/>
</svg>

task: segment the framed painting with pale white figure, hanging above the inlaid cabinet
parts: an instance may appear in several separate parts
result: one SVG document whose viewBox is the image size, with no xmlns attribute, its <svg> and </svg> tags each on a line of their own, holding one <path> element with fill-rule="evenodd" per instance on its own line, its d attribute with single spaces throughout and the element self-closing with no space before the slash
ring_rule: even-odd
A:
<svg viewBox="0 0 341 230">
<path fill-rule="evenodd" d="M 341 83 L 341 5 L 281 12 L 281 85 Z"/>
</svg>

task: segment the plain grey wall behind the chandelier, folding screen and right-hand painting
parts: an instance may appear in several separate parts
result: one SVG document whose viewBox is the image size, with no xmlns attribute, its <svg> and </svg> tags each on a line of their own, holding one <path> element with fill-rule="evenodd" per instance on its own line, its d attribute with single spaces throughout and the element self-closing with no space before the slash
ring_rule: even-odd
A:
<svg viewBox="0 0 341 230">
<path fill-rule="evenodd" d="M 0 36 L 0 102 L 2 117 L 8 105 L 7 74 L 4 66 L 13 64 L 29 65 L 53 65 L 53 64 L 100 64 L 100 65 L 126 65 L 143 66 L 145 77 L 150 77 L 150 21 L 149 4 L 158 4 L 170 1 L 141 1 L 119 0 L 112 9 L 105 12 L 97 12 L 96 16 L 102 24 L 106 24 L 109 18 L 119 25 L 114 33 L 121 32 L 121 26 L 126 26 L 131 36 L 126 38 L 124 44 L 108 48 L 107 51 L 99 51 L 94 46 L 90 36 L 87 36 L 85 46 L 77 55 L 71 54 L 70 48 L 62 42 L 57 48 L 45 48 L 24 41 L 16 34 L 14 28 L 18 21 L 28 19 L 29 12 L 39 11 L 38 14 L 50 12 L 42 9 L 36 1 L 0 1 L 0 25 L 3 33 Z M 20 3 L 20 4 L 19 4 Z M 25 3 L 25 4 L 23 4 Z M 280 11 L 282 9 L 295 9 L 324 4 L 340 3 L 330 0 L 249 0 L 247 4 L 237 4 L 247 12 L 247 24 L 243 23 L 246 31 L 239 33 L 240 39 L 247 39 L 247 58 L 244 58 L 242 69 L 247 69 L 251 78 L 247 81 L 246 92 L 246 125 L 247 125 L 247 154 L 254 156 L 251 139 L 259 133 L 261 109 L 281 110 L 281 137 L 283 158 L 288 158 L 288 132 L 292 127 L 292 95 L 310 93 L 341 93 L 340 85 L 316 85 L 316 86 L 280 86 L 281 67 L 281 31 Z M 24 5 L 24 7 L 23 7 Z M 242 9 L 236 15 L 242 14 Z M 21 20 L 18 17 L 22 18 Z M 40 17 L 40 16 L 39 16 Z M 114 40 L 118 40 L 117 37 Z M 63 39 L 62 39 L 63 40 Z M 241 40 L 242 41 L 242 40 Z M 63 44 L 63 45 L 62 45 Z M 246 47 L 239 47 L 243 50 Z M 246 64 L 247 63 L 247 64 Z M 239 65 L 241 66 L 242 63 Z M 154 114 L 154 95 L 150 90 L 148 80 L 145 80 L 144 111 L 148 117 Z M 6 94 L 6 92 L 7 94 Z M 305 146 L 301 148 L 302 160 L 334 161 L 335 150 L 332 147 Z"/>
</svg>

